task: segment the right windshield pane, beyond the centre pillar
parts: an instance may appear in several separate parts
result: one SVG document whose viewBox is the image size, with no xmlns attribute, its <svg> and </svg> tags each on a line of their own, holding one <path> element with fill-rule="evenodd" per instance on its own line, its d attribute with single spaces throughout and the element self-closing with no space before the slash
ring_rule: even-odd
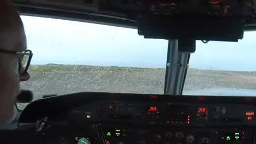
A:
<svg viewBox="0 0 256 144">
<path fill-rule="evenodd" d="M 256 31 L 238 42 L 196 42 L 183 94 L 256 96 Z"/>
</svg>

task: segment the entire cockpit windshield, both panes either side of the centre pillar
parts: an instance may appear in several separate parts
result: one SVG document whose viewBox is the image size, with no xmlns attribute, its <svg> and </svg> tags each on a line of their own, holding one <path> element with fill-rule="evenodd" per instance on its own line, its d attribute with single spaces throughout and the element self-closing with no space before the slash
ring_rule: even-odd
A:
<svg viewBox="0 0 256 144">
<path fill-rule="evenodd" d="M 21 18 L 34 53 L 21 88 L 34 100 L 75 92 L 164 94 L 167 40 L 145 39 L 131 28 Z M 238 43 L 197 41 L 182 94 L 256 95 L 255 33 Z"/>
</svg>

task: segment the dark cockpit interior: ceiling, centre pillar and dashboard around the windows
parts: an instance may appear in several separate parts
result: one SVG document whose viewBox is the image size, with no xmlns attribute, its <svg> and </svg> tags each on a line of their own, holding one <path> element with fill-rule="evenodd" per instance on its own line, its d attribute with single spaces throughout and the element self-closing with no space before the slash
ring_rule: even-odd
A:
<svg viewBox="0 0 256 144">
<path fill-rule="evenodd" d="M 144 38 L 167 39 L 169 54 L 164 94 L 47 95 L 29 103 L 17 122 L 0 130 L 1 143 L 256 143 L 255 97 L 182 95 L 196 41 L 243 39 L 244 31 L 256 30 L 256 0 L 13 3 L 22 15 L 138 29 Z"/>
</svg>

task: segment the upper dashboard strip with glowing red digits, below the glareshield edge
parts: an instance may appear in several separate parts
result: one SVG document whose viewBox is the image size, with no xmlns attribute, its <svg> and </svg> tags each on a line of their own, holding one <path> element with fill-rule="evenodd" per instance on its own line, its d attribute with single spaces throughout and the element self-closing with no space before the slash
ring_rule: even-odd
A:
<svg viewBox="0 0 256 144">
<path fill-rule="evenodd" d="M 71 111 L 72 119 L 151 125 L 250 125 L 255 106 L 171 102 L 104 101 Z"/>
</svg>

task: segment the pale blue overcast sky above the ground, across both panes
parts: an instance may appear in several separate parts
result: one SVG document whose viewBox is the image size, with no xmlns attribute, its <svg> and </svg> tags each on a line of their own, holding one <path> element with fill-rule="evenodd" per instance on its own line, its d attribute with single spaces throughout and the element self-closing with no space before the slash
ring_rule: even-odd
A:
<svg viewBox="0 0 256 144">
<path fill-rule="evenodd" d="M 22 16 L 32 64 L 165 68 L 167 41 L 144 39 L 136 29 Z M 190 67 L 256 71 L 256 31 L 234 42 L 196 43 Z"/>
</svg>

